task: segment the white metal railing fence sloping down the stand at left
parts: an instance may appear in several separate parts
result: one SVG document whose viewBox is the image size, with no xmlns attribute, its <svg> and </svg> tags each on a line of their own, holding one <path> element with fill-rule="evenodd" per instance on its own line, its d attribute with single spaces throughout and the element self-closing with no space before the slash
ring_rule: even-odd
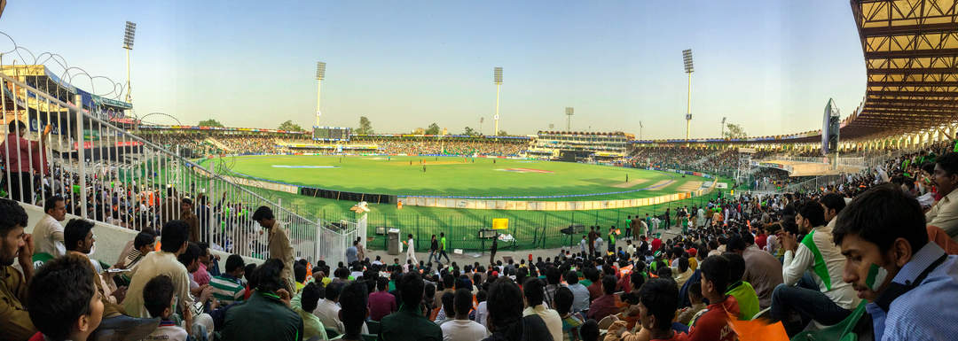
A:
<svg viewBox="0 0 958 341">
<path fill-rule="evenodd" d="M 42 206 L 59 195 L 70 214 L 135 231 L 159 231 L 166 221 L 193 212 L 200 241 L 259 259 L 268 257 L 267 236 L 251 218 L 260 206 L 283 224 L 298 258 L 341 261 L 353 240 L 365 241 L 365 220 L 300 216 L 134 136 L 95 95 L 91 101 L 69 84 L 2 73 L 0 88 L 3 129 L 9 130 L 0 146 L 4 197 Z"/>
</svg>

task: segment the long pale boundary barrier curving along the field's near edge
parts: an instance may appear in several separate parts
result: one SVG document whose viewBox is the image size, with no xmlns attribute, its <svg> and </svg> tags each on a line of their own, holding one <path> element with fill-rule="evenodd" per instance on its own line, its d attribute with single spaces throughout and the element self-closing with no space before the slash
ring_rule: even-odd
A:
<svg viewBox="0 0 958 341">
<path fill-rule="evenodd" d="M 659 205 L 671 201 L 684 200 L 692 197 L 712 193 L 718 181 L 712 185 L 694 192 L 663 194 L 652 197 L 619 199 L 619 200 L 589 200 L 589 201 L 525 201 L 525 200 L 487 200 L 487 199 L 452 199 L 424 196 L 399 196 L 403 206 L 423 206 L 448 209 L 469 210 L 508 210 L 508 211 L 588 211 L 605 209 L 622 209 Z"/>
</svg>

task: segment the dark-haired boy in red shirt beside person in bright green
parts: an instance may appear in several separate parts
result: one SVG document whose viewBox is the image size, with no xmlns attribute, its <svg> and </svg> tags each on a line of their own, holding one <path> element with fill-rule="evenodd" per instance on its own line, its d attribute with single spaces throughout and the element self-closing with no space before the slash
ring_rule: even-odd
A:
<svg viewBox="0 0 958 341">
<path fill-rule="evenodd" d="M 729 261 L 722 256 L 710 256 L 698 267 L 702 275 L 702 296 L 709 299 L 711 304 L 689 329 L 688 340 L 737 340 L 735 330 L 729 324 L 729 316 L 739 315 L 739 303 L 735 297 L 725 295 L 729 282 Z"/>
</svg>

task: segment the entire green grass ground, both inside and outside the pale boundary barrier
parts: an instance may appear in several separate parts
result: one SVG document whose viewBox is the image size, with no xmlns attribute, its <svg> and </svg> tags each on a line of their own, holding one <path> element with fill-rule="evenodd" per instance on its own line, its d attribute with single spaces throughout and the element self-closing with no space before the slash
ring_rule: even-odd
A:
<svg viewBox="0 0 958 341">
<path fill-rule="evenodd" d="M 426 171 L 422 173 L 419 160 L 426 161 Z M 409 166 L 409 161 L 414 166 Z M 442 162 L 429 164 L 433 162 Z M 614 167 L 584 165 L 560 162 L 521 162 L 520 160 L 477 158 L 475 164 L 450 164 L 450 161 L 462 161 L 462 158 L 440 157 L 393 157 L 387 161 L 374 157 L 349 156 L 339 161 L 335 156 L 249 156 L 236 160 L 223 160 L 232 171 L 250 176 L 268 178 L 292 184 L 322 187 L 326 189 L 351 192 L 373 193 L 416 193 L 445 195 L 551 195 L 560 193 L 604 193 L 627 191 L 650 187 L 659 181 L 673 180 L 672 183 L 655 190 L 639 191 L 627 194 L 590 195 L 553 200 L 592 200 L 615 199 L 624 197 L 646 197 L 664 193 L 676 193 L 678 187 L 689 181 L 709 181 L 708 179 L 665 173 L 659 171 L 627 170 Z M 401 163 L 405 163 L 402 165 Z M 287 169 L 281 166 L 339 166 L 333 169 Z M 552 173 L 495 171 L 497 169 L 523 168 Z M 452 172 L 456 176 L 446 176 Z M 630 181 L 642 179 L 644 182 L 632 188 L 614 187 L 625 182 L 625 174 Z M 236 174 L 234 174 L 236 175 Z M 619 179 L 621 177 L 621 179 Z M 424 182 L 431 184 L 424 186 Z M 293 193 L 281 193 L 248 188 L 260 193 L 271 201 L 282 201 L 283 207 L 308 219 L 336 221 L 355 220 L 357 215 L 350 211 L 352 201 L 308 197 Z M 407 192 L 408 191 L 408 192 Z M 468 191 L 468 192 L 467 192 Z M 372 210 L 367 214 L 369 247 L 386 247 L 384 236 L 376 235 L 377 227 L 395 227 L 405 238 L 413 234 L 418 245 L 425 245 L 431 235 L 445 233 L 450 248 L 476 251 L 488 249 L 490 240 L 478 239 L 479 230 L 491 227 L 493 218 L 509 218 L 510 229 L 506 233 L 513 235 L 515 243 L 500 243 L 500 248 L 535 249 L 568 246 L 578 242 L 581 236 L 563 235 L 559 230 L 570 224 L 601 226 L 604 233 L 610 226 L 624 227 L 627 216 L 644 217 L 662 215 L 666 209 L 671 212 L 682 206 L 701 206 L 714 199 L 718 191 L 691 199 L 666 204 L 635 207 L 627 209 L 591 210 L 591 211 L 506 211 L 506 210 L 466 210 L 405 206 L 397 208 L 395 204 L 370 204 Z M 538 199 L 536 199 L 538 200 Z M 422 246 L 420 246 L 422 250 Z"/>
</svg>

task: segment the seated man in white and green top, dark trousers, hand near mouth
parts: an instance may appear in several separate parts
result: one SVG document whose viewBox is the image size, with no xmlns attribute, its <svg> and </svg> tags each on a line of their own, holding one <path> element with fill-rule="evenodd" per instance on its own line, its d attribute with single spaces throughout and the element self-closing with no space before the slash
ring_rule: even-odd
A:
<svg viewBox="0 0 958 341">
<path fill-rule="evenodd" d="M 832 240 L 832 230 L 825 226 L 822 205 L 802 205 L 795 222 L 808 233 L 801 242 L 791 233 L 782 236 L 786 249 L 782 264 L 783 284 L 772 292 L 770 317 L 782 321 L 789 335 L 805 328 L 810 320 L 834 325 L 844 320 L 858 304 L 855 289 L 842 282 L 845 259 Z M 799 281 L 810 273 L 811 281 Z M 798 284 L 797 286 L 793 286 Z M 793 315 L 799 318 L 793 318 Z"/>
</svg>

